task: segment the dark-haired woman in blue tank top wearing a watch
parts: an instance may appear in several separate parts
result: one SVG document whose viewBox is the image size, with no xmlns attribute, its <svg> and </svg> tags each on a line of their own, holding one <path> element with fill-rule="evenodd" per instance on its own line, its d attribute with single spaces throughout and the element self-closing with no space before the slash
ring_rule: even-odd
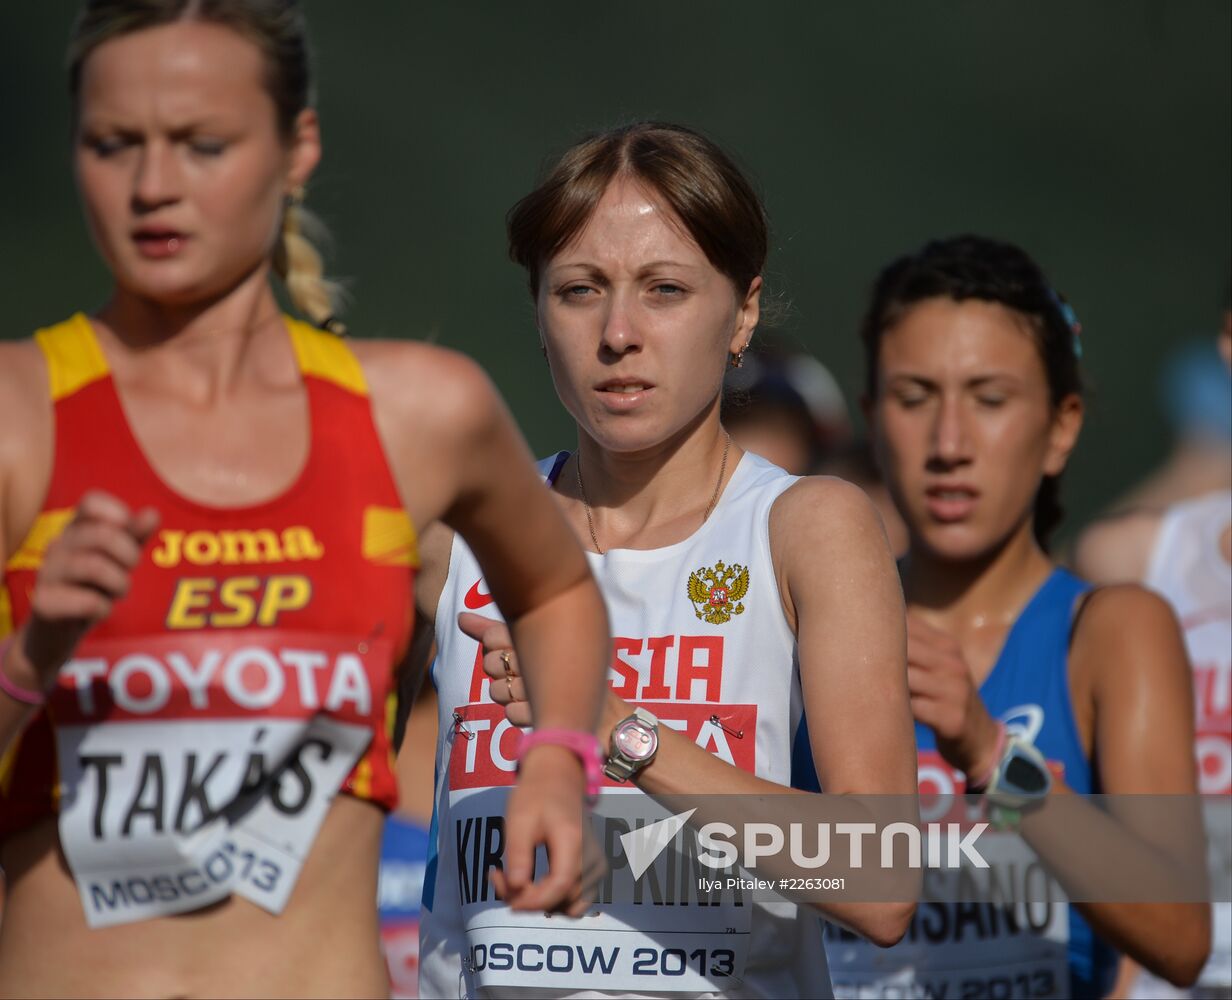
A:
<svg viewBox="0 0 1232 1000">
<path fill-rule="evenodd" d="M 1021 833 L 1002 842 L 1039 851 L 1064 899 L 1072 844 L 1040 834 L 1048 796 L 1195 791 L 1172 612 L 1140 587 L 1093 591 L 1047 554 L 1083 420 L 1077 323 L 1025 252 L 960 236 L 882 271 L 862 336 L 866 415 L 910 537 L 902 579 L 920 791 L 986 791 Z M 1015 791 L 1027 794 L 1021 808 L 998 812 Z M 1037 889 L 1003 889 L 997 906 L 922 903 L 888 952 L 832 929 L 835 991 L 1099 996 L 1114 947 L 1175 983 L 1202 966 L 1199 903 L 1046 903 Z"/>
</svg>

